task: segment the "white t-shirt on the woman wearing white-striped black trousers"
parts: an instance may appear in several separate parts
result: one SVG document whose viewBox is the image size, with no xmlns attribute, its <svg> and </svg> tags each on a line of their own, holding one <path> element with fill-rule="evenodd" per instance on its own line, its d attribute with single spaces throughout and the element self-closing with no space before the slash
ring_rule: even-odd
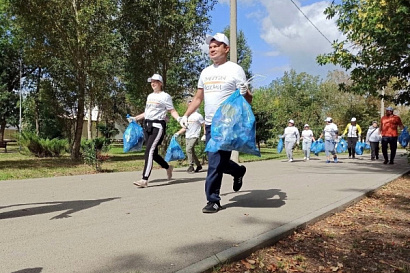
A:
<svg viewBox="0 0 410 273">
<path fill-rule="evenodd" d="M 174 109 L 172 98 L 168 93 L 161 91 L 159 93 L 152 92 L 147 97 L 145 104 L 145 119 L 150 120 L 165 120 L 167 112 Z"/>
</svg>

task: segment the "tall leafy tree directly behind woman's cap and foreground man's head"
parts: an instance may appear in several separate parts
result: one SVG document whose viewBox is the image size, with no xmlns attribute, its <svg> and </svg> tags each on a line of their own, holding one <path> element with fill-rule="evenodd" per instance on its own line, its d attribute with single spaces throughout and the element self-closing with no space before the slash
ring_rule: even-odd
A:
<svg viewBox="0 0 410 273">
<path fill-rule="evenodd" d="M 195 60 L 209 28 L 208 11 L 217 0 L 122 0 L 120 30 L 126 50 L 126 84 L 134 104 L 143 107 L 151 92 L 147 78 L 159 73 L 172 96 L 193 83 Z M 193 53 L 197 53 L 193 57 Z M 193 68 L 193 69 L 192 69 Z M 189 72 L 191 69 L 192 72 Z M 169 78 L 172 77 L 172 78 Z M 140 109 L 141 110 L 141 109 Z"/>
</svg>

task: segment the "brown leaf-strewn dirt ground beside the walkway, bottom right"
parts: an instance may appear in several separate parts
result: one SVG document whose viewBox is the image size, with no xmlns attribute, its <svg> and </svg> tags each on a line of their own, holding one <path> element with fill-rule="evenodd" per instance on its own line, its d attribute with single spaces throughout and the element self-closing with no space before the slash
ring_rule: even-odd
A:
<svg viewBox="0 0 410 273">
<path fill-rule="evenodd" d="M 410 175 L 213 272 L 410 272 Z"/>
</svg>

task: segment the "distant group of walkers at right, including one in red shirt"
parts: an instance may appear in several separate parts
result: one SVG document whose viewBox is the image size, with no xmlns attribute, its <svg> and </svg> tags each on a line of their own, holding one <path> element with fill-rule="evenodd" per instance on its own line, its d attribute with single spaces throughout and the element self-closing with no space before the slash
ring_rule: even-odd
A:
<svg viewBox="0 0 410 273">
<path fill-rule="evenodd" d="M 324 146 L 326 154 L 326 163 L 338 162 L 336 153 L 336 145 L 339 142 L 339 130 L 331 117 L 325 119 L 326 126 L 324 127 L 319 139 L 324 137 Z M 315 141 L 312 130 L 309 124 L 305 124 L 302 134 L 299 134 L 298 128 L 295 127 L 294 120 L 289 120 L 288 126 L 285 128 L 283 135 L 285 143 L 286 156 L 289 162 L 293 162 L 293 149 L 299 145 L 300 138 L 302 138 L 302 150 L 304 160 L 310 159 L 310 152 L 312 143 Z M 398 129 L 403 129 L 403 123 L 399 116 L 393 114 L 393 108 L 387 107 L 386 114 L 381 118 L 380 127 L 377 121 L 373 121 L 366 134 L 366 143 L 370 145 L 371 160 L 379 159 L 379 142 L 382 146 L 383 164 L 394 164 L 394 158 L 397 150 Z M 347 139 L 347 150 L 349 159 L 356 158 L 356 144 L 362 135 L 362 128 L 357 124 L 355 117 L 351 118 L 350 123 L 347 124 L 342 138 Z M 390 159 L 388 155 L 388 147 L 390 146 Z"/>
</svg>

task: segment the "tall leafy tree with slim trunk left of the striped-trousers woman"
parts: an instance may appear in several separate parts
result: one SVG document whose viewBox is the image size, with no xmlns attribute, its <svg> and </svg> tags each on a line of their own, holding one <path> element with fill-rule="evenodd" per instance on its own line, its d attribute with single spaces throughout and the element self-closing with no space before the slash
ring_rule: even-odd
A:
<svg viewBox="0 0 410 273">
<path fill-rule="evenodd" d="M 87 99 L 109 92 L 121 44 L 115 0 L 10 0 L 26 34 L 25 56 L 43 67 L 75 120 L 71 157 L 80 157 Z M 96 84 L 98 83 L 98 84 Z M 89 105 L 90 105 L 89 104 Z"/>
</svg>

